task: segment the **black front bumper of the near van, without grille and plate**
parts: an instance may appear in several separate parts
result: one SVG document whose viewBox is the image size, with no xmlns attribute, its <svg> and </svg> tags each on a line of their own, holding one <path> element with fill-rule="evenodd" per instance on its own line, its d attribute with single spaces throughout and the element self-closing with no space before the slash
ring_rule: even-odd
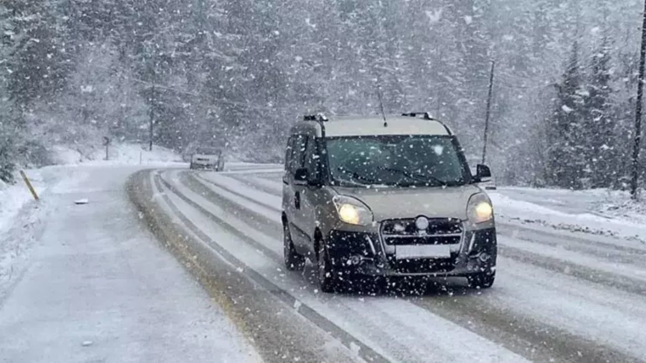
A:
<svg viewBox="0 0 646 363">
<path fill-rule="evenodd" d="M 378 233 L 333 230 L 326 238 L 335 270 L 368 276 L 468 276 L 495 271 L 495 228 L 465 231 L 450 258 L 397 260 Z"/>
</svg>

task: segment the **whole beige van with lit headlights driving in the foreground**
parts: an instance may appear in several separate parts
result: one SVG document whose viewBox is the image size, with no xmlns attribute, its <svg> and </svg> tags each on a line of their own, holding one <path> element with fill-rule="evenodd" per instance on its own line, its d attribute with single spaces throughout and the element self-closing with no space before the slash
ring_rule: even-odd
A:
<svg viewBox="0 0 646 363">
<path fill-rule="evenodd" d="M 317 115 L 290 135 L 282 198 L 287 269 L 311 260 L 325 292 L 395 276 L 494 284 L 494 210 L 477 186 L 491 172 L 477 165 L 472 175 L 446 125 L 427 113 L 385 121 Z"/>
</svg>

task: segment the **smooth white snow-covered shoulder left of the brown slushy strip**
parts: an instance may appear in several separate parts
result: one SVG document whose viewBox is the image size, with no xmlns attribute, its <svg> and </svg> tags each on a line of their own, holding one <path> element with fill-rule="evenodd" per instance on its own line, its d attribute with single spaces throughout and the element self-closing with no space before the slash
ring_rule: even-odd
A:
<svg viewBox="0 0 646 363">
<path fill-rule="evenodd" d="M 260 361 L 140 220 L 124 189 L 135 171 L 48 169 L 43 231 L 0 294 L 0 362 Z"/>
</svg>

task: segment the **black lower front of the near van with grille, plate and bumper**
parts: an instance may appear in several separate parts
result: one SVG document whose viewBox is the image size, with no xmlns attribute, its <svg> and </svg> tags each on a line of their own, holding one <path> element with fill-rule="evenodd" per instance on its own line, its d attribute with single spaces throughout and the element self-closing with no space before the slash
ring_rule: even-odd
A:
<svg viewBox="0 0 646 363">
<path fill-rule="evenodd" d="M 428 227 L 419 229 L 426 223 Z M 368 228 L 338 226 L 324 242 L 331 264 L 342 275 L 455 276 L 476 282 L 495 275 L 497 240 L 493 221 L 478 229 L 468 224 L 424 216 L 386 220 Z"/>
</svg>

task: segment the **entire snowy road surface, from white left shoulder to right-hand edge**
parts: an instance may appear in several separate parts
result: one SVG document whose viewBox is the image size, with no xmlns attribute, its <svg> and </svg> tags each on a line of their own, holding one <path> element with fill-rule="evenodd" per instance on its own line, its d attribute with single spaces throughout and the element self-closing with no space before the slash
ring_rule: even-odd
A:
<svg viewBox="0 0 646 363">
<path fill-rule="evenodd" d="M 638 240 L 505 218 L 490 290 L 329 295 L 282 264 L 280 166 L 139 169 L 42 172 L 0 362 L 646 362 Z"/>
</svg>

